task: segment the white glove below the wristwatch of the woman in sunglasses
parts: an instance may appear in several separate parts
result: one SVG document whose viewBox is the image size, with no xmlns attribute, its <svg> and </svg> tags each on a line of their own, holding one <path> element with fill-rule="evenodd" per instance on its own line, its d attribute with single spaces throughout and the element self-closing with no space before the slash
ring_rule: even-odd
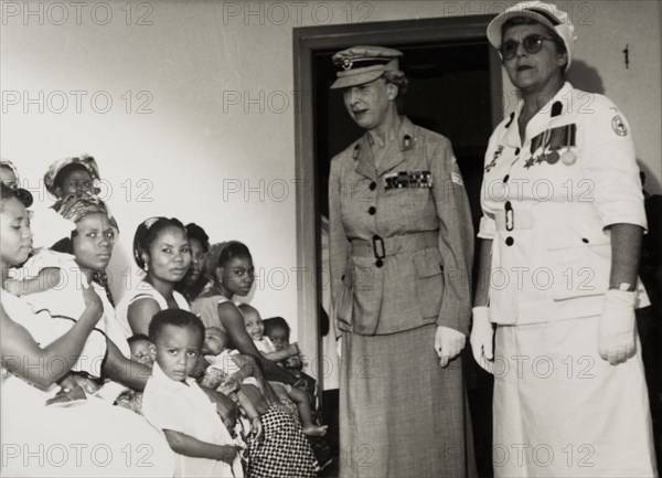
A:
<svg viewBox="0 0 662 478">
<path fill-rule="evenodd" d="M 634 354 L 634 304 L 637 290 L 609 289 L 605 293 L 600 327 L 598 329 L 598 353 L 616 365 Z"/>
</svg>

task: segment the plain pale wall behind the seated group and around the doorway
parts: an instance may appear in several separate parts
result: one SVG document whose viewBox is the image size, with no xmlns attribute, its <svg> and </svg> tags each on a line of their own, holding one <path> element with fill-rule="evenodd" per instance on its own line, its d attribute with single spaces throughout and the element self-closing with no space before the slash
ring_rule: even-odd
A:
<svg viewBox="0 0 662 478">
<path fill-rule="evenodd" d="M 606 94 L 629 118 L 650 189 L 660 192 L 660 3 L 558 4 L 570 7 L 575 21 L 584 23 L 576 59 L 597 70 Z M 261 270 L 253 304 L 265 317 L 292 321 L 292 28 L 496 13 L 506 3 L 188 1 L 136 2 L 127 9 L 122 0 L 78 6 L 77 12 L 70 1 L 2 2 L 1 156 L 14 160 L 36 188 L 55 159 L 92 153 L 111 188 L 107 198 L 121 227 L 116 273 L 134 266 L 130 247 L 141 220 L 194 221 L 215 241 L 248 244 Z M 29 11 L 35 13 L 25 17 Z M 151 24 L 138 24 L 141 15 Z M 621 53 L 626 43 L 629 70 Z M 130 107 L 125 92 L 132 97 Z M 138 97 L 139 92 L 146 93 Z M 107 97 L 113 107 L 102 113 Z M 151 113 L 138 114 L 148 99 Z M 141 192 L 150 202 L 138 200 Z M 50 203 L 42 194 L 36 209 Z M 116 294 L 121 280 L 114 285 Z"/>
</svg>

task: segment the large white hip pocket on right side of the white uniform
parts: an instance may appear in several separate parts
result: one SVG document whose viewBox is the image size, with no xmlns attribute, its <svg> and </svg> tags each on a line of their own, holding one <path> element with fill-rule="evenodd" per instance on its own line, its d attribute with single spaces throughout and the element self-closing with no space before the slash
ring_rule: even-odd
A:
<svg viewBox="0 0 662 478">
<path fill-rule="evenodd" d="M 534 284 L 537 288 L 548 287 L 554 300 L 605 294 L 609 287 L 611 243 L 602 231 L 554 231 L 546 242 L 545 264 L 551 270 L 552 285 Z M 544 275 L 547 274 L 534 277 Z"/>
</svg>

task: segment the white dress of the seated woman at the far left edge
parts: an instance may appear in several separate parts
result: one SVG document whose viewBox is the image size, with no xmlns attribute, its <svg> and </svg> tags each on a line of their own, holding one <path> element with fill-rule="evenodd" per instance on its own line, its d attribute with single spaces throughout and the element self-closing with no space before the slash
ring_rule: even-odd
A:
<svg viewBox="0 0 662 478">
<path fill-rule="evenodd" d="M 19 297 L 2 290 L 1 300 L 9 317 L 29 332 L 43 322 Z M 7 363 L 12 358 L 3 360 Z M 0 438 L 4 476 L 173 475 L 172 450 L 145 418 L 94 396 L 68 407 L 45 406 L 57 389 L 55 385 L 44 391 L 18 375 L 2 374 Z"/>
</svg>

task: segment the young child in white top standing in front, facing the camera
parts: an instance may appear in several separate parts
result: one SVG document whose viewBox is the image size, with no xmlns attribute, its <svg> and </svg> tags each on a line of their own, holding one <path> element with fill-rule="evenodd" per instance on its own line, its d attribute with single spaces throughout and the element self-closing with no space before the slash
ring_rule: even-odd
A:
<svg viewBox="0 0 662 478">
<path fill-rule="evenodd" d="M 242 477 L 239 446 L 207 394 L 190 378 L 204 340 L 193 314 L 166 309 L 149 325 L 156 363 L 142 396 L 142 414 L 162 429 L 177 454 L 175 477 Z"/>
</svg>

